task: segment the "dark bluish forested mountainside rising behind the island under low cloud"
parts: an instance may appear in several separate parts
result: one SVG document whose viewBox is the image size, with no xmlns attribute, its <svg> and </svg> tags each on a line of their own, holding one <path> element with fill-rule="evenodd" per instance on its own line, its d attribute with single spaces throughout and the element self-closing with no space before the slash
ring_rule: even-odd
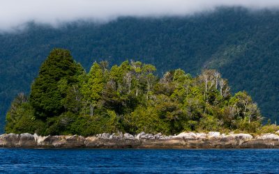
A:
<svg viewBox="0 0 279 174">
<path fill-rule="evenodd" d="M 53 29 L 0 34 L 1 123 L 17 93 L 29 93 L 40 63 L 54 47 L 69 49 L 88 71 L 93 61 L 110 65 L 133 59 L 156 65 L 157 74 L 182 68 L 195 77 L 216 68 L 232 91 L 246 90 L 263 116 L 278 116 L 279 13 L 223 8 L 190 17 L 123 17 L 107 24 L 78 22 Z"/>
</svg>

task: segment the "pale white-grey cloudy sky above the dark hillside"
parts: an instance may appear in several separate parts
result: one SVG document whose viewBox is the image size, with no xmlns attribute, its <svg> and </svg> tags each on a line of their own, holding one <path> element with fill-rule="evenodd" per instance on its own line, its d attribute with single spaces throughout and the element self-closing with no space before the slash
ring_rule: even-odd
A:
<svg viewBox="0 0 279 174">
<path fill-rule="evenodd" d="M 27 22 L 59 26 L 77 20 L 109 22 L 125 16 L 185 16 L 220 6 L 277 9 L 279 0 L 0 0 L 0 31 L 19 29 Z"/>
</svg>

